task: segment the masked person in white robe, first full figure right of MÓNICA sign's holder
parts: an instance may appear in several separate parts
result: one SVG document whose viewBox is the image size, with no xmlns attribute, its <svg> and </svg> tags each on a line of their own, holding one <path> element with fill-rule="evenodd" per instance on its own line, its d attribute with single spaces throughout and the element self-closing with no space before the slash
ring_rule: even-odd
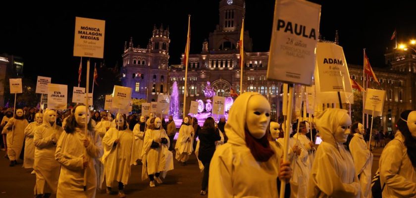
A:
<svg viewBox="0 0 416 198">
<path fill-rule="evenodd" d="M 136 161 L 133 152 L 133 132 L 127 126 L 124 114 L 117 114 L 115 117 L 116 127 L 110 128 L 103 138 L 104 155 L 102 158 L 105 171 L 105 185 L 107 194 L 118 185 L 120 198 L 126 197 L 124 186 L 128 184 L 131 165 Z"/>
</svg>

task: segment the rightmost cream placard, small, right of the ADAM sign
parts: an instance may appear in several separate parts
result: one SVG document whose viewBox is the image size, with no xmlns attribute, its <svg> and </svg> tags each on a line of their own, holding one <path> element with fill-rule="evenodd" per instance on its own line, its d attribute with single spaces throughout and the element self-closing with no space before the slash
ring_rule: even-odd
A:
<svg viewBox="0 0 416 198">
<path fill-rule="evenodd" d="M 374 109 L 373 116 L 382 116 L 385 98 L 386 91 L 367 88 L 365 92 L 364 113 L 371 115 Z"/>
</svg>

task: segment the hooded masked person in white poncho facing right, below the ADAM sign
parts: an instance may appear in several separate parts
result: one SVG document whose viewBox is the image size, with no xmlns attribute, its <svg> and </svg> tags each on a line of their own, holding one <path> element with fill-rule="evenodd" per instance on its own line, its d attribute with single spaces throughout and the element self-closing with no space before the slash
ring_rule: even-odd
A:
<svg viewBox="0 0 416 198">
<path fill-rule="evenodd" d="M 327 108 L 316 119 L 322 143 L 313 161 L 308 198 L 360 198 L 362 196 L 354 161 L 344 148 L 350 133 L 347 110 Z"/>
</svg>

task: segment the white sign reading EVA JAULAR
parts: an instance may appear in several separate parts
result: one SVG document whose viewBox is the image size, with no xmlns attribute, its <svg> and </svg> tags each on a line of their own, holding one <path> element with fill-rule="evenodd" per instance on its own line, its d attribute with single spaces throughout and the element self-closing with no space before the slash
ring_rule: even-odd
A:
<svg viewBox="0 0 416 198">
<path fill-rule="evenodd" d="M 66 109 L 67 103 L 67 85 L 52 84 L 48 85 L 48 108 Z"/>
</svg>

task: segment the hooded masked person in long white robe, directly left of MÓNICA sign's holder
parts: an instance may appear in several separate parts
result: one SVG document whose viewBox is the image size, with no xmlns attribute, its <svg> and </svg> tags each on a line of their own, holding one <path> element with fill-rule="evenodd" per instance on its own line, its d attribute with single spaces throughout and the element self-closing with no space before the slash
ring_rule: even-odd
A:
<svg viewBox="0 0 416 198">
<path fill-rule="evenodd" d="M 58 186 L 60 164 L 55 160 L 55 150 L 63 129 L 55 122 L 56 112 L 48 109 L 44 112 L 42 125 L 35 129 L 33 169 L 36 174 L 34 194 L 37 198 L 50 197 L 56 193 Z"/>
</svg>

